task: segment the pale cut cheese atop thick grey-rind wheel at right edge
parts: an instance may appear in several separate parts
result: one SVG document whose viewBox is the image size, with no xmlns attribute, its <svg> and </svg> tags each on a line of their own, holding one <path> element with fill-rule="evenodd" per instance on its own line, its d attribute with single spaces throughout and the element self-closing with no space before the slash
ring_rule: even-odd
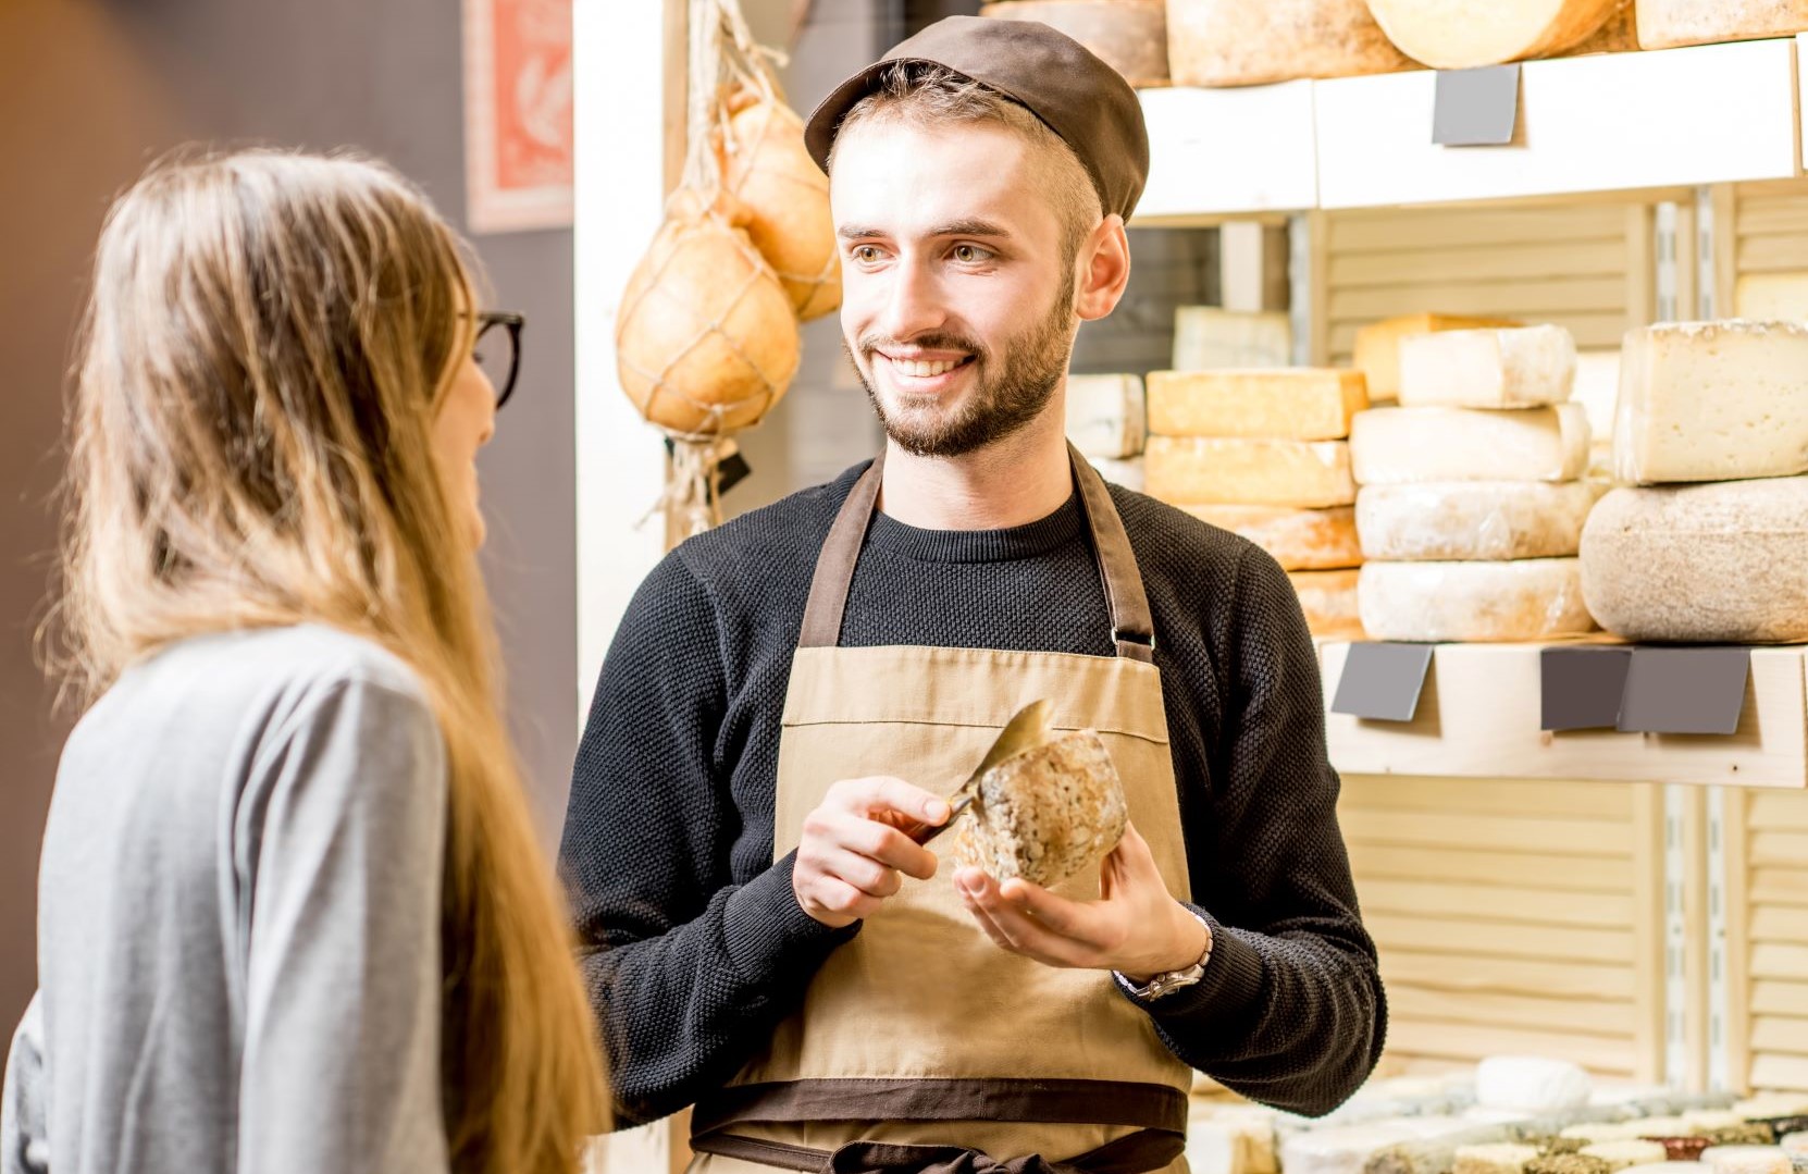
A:
<svg viewBox="0 0 1808 1174">
<path fill-rule="evenodd" d="M 1582 590 L 1629 640 L 1808 640 L 1808 326 L 1634 329 Z"/>
</svg>

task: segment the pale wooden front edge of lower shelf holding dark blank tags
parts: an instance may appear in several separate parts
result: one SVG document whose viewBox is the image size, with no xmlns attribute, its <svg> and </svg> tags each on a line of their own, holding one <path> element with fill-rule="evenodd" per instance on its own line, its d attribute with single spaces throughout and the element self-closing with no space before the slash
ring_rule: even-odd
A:
<svg viewBox="0 0 1808 1174">
<path fill-rule="evenodd" d="M 1320 644 L 1331 765 L 1345 774 L 1808 787 L 1808 649 L 1754 648 L 1728 736 L 1539 729 L 1539 644 L 1439 644 L 1412 722 L 1331 713 L 1349 644 Z"/>
</svg>

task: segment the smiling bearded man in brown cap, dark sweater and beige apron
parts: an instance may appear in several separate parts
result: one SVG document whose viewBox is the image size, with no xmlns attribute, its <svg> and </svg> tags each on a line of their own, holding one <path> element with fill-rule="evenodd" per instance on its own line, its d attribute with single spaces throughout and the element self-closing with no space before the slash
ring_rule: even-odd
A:
<svg viewBox="0 0 1808 1174">
<path fill-rule="evenodd" d="M 1135 94 L 956 16 L 808 143 L 888 443 L 678 548 L 602 669 L 562 868 L 622 1116 L 696 1103 L 718 1174 L 1141 1174 L 1181 1169 L 1190 1069 L 1332 1109 L 1385 1004 L 1298 601 L 1063 440 L 1074 333 L 1130 277 Z M 1040 696 L 1132 814 L 1059 892 L 908 834 Z"/>
</svg>

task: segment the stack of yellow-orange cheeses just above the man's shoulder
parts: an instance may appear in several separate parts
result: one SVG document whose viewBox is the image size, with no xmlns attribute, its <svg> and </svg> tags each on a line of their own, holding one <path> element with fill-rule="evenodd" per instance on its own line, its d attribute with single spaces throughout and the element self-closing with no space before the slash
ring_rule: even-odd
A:
<svg viewBox="0 0 1808 1174">
<path fill-rule="evenodd" d="M 1148 376 L 1148 492 L 1235 530 L 1289 572 L 1307 626 L 1358 635 L 1351 418 L 1360 371 L 1157 371 Z"/>
</svg>

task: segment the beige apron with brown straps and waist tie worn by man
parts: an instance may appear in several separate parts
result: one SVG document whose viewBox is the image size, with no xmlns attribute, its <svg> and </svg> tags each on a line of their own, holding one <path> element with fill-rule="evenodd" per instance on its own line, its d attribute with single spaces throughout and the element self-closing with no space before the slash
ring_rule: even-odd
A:
<svg viewBox="0 0 1808 1174">
<path fill-rule="evenodd" d="M 967 648 L 837 648 L 879 497 L 859 479 L 823 546 L 792 660 L 774 859 L 832 783 L 897 774 L 951 792 L 1023 704 L 1092 727 L 1175 897 L 1188 894 L 1154 622 L 1105 481 L 1070 454 L 1112 615 L 1116 657 Z M 946 847 L 942 841 L 937 847 Z M 1101 970 L 1000 950 L 942 857 L 817 971 L 801 1011 L 692 1118 L 691 1174 L 1184 1174 L 1191 1071 Z M 1099 894 L 1097 874 L 1056 892 Z"/>
</svg>

